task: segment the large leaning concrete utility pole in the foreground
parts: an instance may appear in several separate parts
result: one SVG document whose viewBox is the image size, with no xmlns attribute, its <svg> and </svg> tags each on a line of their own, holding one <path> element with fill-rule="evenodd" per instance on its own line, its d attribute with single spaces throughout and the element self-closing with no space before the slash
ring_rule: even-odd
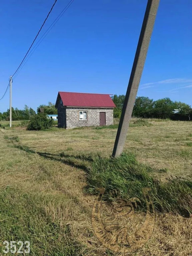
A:
<svg viewBox="0 0 192 256">
<path fill-rule="evenodd" d="M 117 130 L 117 135 L 115 139 L 115 144 L 113 148 L 112 156 L 119 156 L 123 152 L 127 131 L 129 128 L 129 122 L 131 119 L 131 114 L 133 111 L 133 106 L 135 103 L 135 98 L 137 96 L 137 90 L 139 87 L 141 75 L 143 72 L 143 67 L 149 47 L 149 42 L 151 39 L 151 34 L 153 31 L 153 26 L 155 23 L 155 18 L 157 14 L 157 9 L 160 0 L 148 0 L 147 7 L 145 11 L 145 16 L 143 19 L 143 25 L 141 28 L 141 33 L 139 36 L 139 42 L 137 45 L 137 50 L 135 53 L 135 59 L 133 62 L 133 67 L 131 70 L 131 75 L 129 79 L 129 84 L 125 96 L 125 102 L 122 109 L 121 118 L 119 121 L 119 127 Z"/>
</svg>

